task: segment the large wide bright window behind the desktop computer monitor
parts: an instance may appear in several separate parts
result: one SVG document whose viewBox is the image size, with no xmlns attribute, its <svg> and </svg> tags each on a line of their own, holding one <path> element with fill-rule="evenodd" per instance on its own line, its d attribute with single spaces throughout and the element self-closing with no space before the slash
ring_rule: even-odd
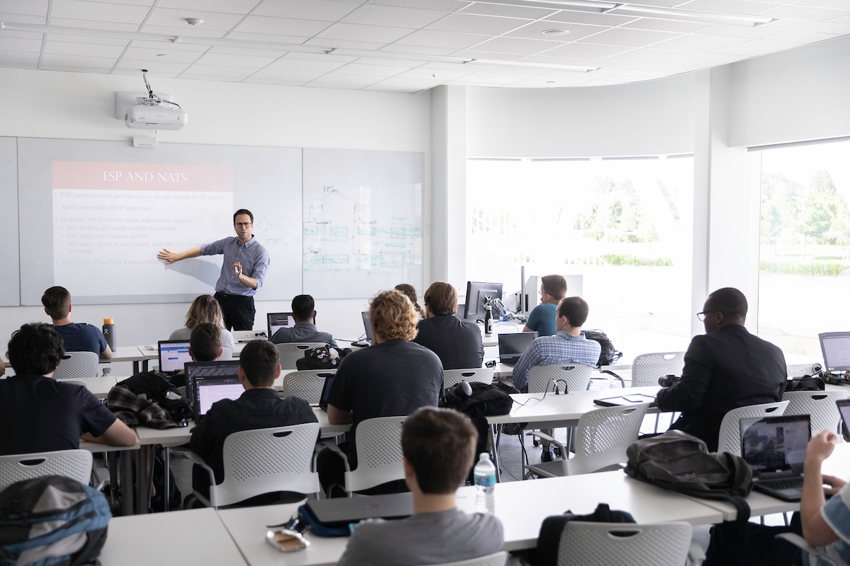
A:
<svg viewBox="0 0 850 566">
<path fill-rule="evenodd" d="M 694 160 L 469 160 L 467 279 L 583 276 L 585 328 L 626 356 L 690 339 Z M 535 293 L 535 289 L 528 291 Z"/>
</svg>

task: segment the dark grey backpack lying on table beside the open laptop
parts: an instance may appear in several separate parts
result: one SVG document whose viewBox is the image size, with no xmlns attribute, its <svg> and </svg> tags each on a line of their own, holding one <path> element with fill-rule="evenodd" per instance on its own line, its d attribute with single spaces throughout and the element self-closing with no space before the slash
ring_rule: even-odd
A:
<svg viewBox="0 0 850 566">
<path fill-rule="evenodd" d="M 626 474 L 632 478 L 686 496 L 732 503 L 737 522 L 750 518 L 744 498 L 752 491 L 752 470 L 744 458 L 709 453 L 703 440 L 681 430 L 633 442 L 626 456 Z"/>
</svg>

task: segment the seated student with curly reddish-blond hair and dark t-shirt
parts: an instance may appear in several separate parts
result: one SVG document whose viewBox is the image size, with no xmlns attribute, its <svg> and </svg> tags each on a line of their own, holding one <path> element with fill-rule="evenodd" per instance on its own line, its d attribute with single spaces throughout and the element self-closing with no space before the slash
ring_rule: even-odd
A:
<svg viewBox="0 0 850 566">
<path fill-rule="evenodd" d="M 382 291 L 370 301 L 369 312 L 372 345 L 343 358 L 327 398 L 327 419 L 331 424 L 354 423 L 351 440 L 339 445 L 348 455 L 352 470 L 357 468 L 355 443 L 361 421 L 403 417 L 421 406 L 437 406 L 443 396 L 439 357 L 411 342 L 416 337 L 419 318 L 411 301 L 399 291 Z M 322 451 L 317 468 L 325 490 L 345 483 L 343 459 L 336 452 Z M 344 490 L 334 495 L 341 493 L 344 495 Z"/>
</svg>

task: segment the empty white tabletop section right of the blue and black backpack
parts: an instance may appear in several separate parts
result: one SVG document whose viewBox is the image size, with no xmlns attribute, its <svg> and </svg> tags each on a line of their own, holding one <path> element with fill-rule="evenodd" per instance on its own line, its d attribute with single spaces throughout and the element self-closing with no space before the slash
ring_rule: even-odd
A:
<svg viewBox="0 0 850 566">
<path fill-rule="evenodd" d="M 104 566 L 245 564 L 212 508 L 112 518 L 100 562 Z"/>
</svg>

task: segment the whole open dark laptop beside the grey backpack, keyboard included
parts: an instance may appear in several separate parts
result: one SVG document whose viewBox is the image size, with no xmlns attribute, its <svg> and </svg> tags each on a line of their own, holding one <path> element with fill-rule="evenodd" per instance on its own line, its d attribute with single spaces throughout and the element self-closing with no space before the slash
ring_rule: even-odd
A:
<svg viewBox="0 0 850 566">
<path fill-rule="evenodd" d="M 802 466 L 812 438 L 808 415 L 742 418 L 741 451 L 750 464 L 753 489 L 785 502 L 802 496 Z"/>
</svg>

